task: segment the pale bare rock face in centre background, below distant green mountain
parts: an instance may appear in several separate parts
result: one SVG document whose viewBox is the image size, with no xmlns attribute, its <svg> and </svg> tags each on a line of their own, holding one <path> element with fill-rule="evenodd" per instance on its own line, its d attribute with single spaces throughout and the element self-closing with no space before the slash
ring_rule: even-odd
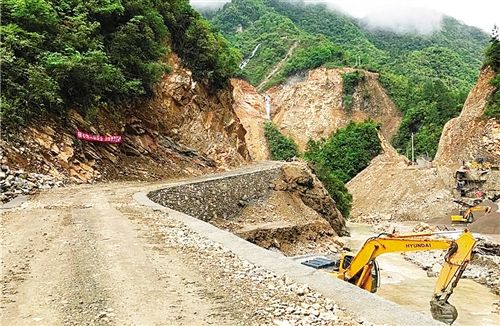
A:
<svg viewBox="0 0 500 326">
<path fill-rule="evenodd" d="M 350 121 L 368 118 L 381 123 L 388 139 L 397 132 L 400 112 L 378 82 L 378 75 L 362 71 L 364 79 L 356 88 L 352 109 L 342 106 L 342 74 L 352 68 L 311 70 L 298 81 L 273 87 L 273 121 L 304 149 L 309 139 L 327 138 Z"/>
</svg>

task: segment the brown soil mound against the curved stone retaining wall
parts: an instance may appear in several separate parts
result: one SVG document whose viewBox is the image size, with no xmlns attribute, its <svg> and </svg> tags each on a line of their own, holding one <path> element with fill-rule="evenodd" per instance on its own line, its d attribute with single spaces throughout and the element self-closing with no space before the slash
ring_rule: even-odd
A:
<svg viewBox="0 0 500 326">
<path fill-rule="evenodd" d="M 287 255 L 317 247 L 337 252 L 345 222 L 310 173 L 301 163 L 283 166 L 268 196 L 248 203 L 235 218 L 211 223 Z"/>
</svg>

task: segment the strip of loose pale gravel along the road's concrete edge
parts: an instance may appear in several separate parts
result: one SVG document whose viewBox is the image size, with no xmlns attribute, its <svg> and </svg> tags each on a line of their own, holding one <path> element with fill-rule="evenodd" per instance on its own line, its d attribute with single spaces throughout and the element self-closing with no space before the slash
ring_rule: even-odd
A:
<svg viewBox="0 0 500 326">
<path fill-rule="evenodd" d="M 165 226 L 165 222 L 168 224 Z M 349 315 L 333 300 L 287 277 L 243 260 L 183 224 L 162 217 L 160 232 L 169 247 L 194 254 L 193 264 L 205 271 L 206 281 L 240 307 L 251 325 L 370 325 Z"/>
</svg>

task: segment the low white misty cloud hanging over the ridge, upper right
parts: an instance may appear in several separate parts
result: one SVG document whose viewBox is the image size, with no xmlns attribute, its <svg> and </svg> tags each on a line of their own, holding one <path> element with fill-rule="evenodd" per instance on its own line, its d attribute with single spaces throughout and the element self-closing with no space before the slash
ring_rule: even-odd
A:
<svg viewBox="0 0 500 326">
<path fill-rule="evenodd" d="M 442 13 L 431 9 L 389 6 L 368 12 L 362 21 L 371 29 L 430 34 L 441 28 L 442 19 Z"/>
</svg>

